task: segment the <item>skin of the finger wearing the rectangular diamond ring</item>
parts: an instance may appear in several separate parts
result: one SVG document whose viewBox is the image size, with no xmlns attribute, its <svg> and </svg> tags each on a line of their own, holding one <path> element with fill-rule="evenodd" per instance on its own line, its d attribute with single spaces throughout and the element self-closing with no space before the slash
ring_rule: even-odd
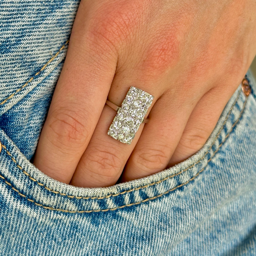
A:
<svg viewBox="0 0 256 256">
<path fill-rule="evenodd" d="M 121 106 L 122 100 L 125 98 L 130 86 L 122 87 L 120 85 L 127 84 L 128 83 L 124 81 L 122 77 L 115 77 L 108 97 L 109 100 Z M 139 87 L 141 90 L 144 90 L 143 86 Z M 155 90 L 154 87 L 148 86 L 147 92 L 155 96 L 151 108 L 159 97 L 159 92 L 157 91 L 158 90 Z M 72 185 L 82 187 L 110 186 L 114 185 L 119 179 L 127 159 L 129 159 L 136 142 L 139 140 L 145 124 L 140 125 L 132 143 L 127 145 L 113 139 L 107 134 L 115 115 L 116 111 L 111 109 L 108 105 L 105 105 L 91 141 L 73 175 L 71 180 Z M 124 122 L 122 124 L 124 124 Z"/>
</svg>

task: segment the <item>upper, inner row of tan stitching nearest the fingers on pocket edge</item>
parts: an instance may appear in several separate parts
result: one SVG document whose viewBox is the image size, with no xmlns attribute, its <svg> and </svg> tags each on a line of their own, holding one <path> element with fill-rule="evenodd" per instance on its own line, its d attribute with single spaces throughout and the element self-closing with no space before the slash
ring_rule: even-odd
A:
<svg viewBox="0 0 256 256">
<path fill-rule="evenodd" d="M 239 90 L 238 95 L 237 95 L 237 98 L 235 99 L 234 103 L 232 104 L 232 107 L 230 108 L 230 110 L 229 110 L 229 112 L 228 112 L 228 114 L 227 114 L 227 116 L 226 116 L 226 118 L 225 118 L 225 120 L 224 120 L 224 123 L 223 123 L 223 125 L 221 126 L 221 128 L 220 128 L 218 134 L 215 136 L 214 141 L 213 141 L 213 143 L 211 144 L 210 148 L 205 152 L 205 154 L 204 154 L 198 161 L 196 161 L 196 163 L 194 163 L 193 165 L 190 165 L 188 168 L 186 168 L 186 169 L 184 169 L 184 170 L 179 171 L 179 173 L 176 173 L 176 174 L 167 176 L 167 177 L 165 177 L 164 179 L 161 179 L 161 180 L 159 180 L 159 181 L 155 181 L 154 183 L 150 183 L 150 184 L 147 184 L 147 185 L 144 185 L 144 186 L 140 186 L 140 187 L 138 187 L 138 188 L 134 188 L 134 189 L 130 189 L 130 190 L 125 190 L 125 191 L 122 191 L 122 192 L 117 193 L 117 194 L 110 194 L 110 195 L 101 196 L 101 197 L 97 197 L 97 196 L 91 196 L 91 197 L 88 196 L 88 197 L 85 197 L 85 196 L 67 195 L 67 194 L 65 194 L 65 193 L 60 193 L 60 191 L 52 190 L 52 189 L 48 188 L 46 185 L 40 183 L 40 182 L 39 182 L 38 180 L 36 180 L 35 178 L 33 178 L 33 177 L 32 177 L 31 175 L 29 175 L 25 170 L 23 170 L 22 166 L 20 166 L 20 165 L 17 164 L 17 161 L 14 159 L 14 157 L 11 155 L 11 153 L 6 149 L 6 146 L 4 146 L 4 145 L 2 144 L 2 147 L 3 147 L 4 150 L 6 150 L 7 155 L 9 155 L 9 156 L 11 157 L 12 161 L 17 165 L 17 167 L 18 167 L 19 169 L 21 169 L 22 172 L 23 172 L 26 176 L 28 176 L 29 179 L 33 180 L 33 181 L 36 182 L 38 185 L 43 186 L 43 188 L 45 188 L 46 190 L 48 190 L 48 191 L 50 191 L 50 192 L 52 192 L 52 193 L 54 193 L 54 194 L 60 194 L 61 196 L 67 196 L 68 198 L 72 198 L 72 199 L 73 199 L 73 198 L 75 198 L 75 199 L 86 199 L 86 200 L 87 200 L 87 199 L 97 199 L 97 200 L 100 200 L 100 199 L 107 199 L 107 198 L 110 198 L 111 196 L 114 197 L 114 196 L 118 196 L 118 195 L 123 195 L 123 194 L 126 194 L 126 193 L 130 193 L 131 191 L 136 191 L 136 190 L 144 189 L 144 188 L 147 188 L 147 187 L 149 187 L 149 186 L 162 183 L 162 182 L 164 182 L 165 180 L 174 178 L 175 176 L 178 176 L 178 175 L 180 175 L 181 173 L 184 173 L 185 171 L 189 170 L 190 168 L 193 168 L 196 164 L 199 164 L 200 161 L 204 159 L 204 157 L 209 153 L 209 151 L 210 151 L 211 148 L 213 147 L 213 145 L 214 145 L 216 139 L 217 139 L 218 136 L 220 135 L 220 132 L 223 130 L 223 127 L 224 127 L 224 125 L 226 124 L 226 122 L 227 122 L 227 120 L 228 120 L 228 117 L 229 117 L 231 111 L 233 110 L 235 104 L 237 103 L 237 101 L 238 101 L 239 96 L 240 96 L 241 93 L 242 93 L 242 88 Z"/>
</svg>

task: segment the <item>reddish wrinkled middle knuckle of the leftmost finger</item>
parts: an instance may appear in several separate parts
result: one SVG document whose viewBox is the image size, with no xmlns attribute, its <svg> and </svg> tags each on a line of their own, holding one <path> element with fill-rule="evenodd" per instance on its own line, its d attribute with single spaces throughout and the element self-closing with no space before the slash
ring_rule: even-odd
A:
<svg viewBox="0 0 256 256">
<path fill-rule="evenodd" d="M 62 109 L 52 114 L 50 132 L 52 143 L 59 147 L 82 146 L 88 137 L 88 127 L 82 124 L 76 111 Z"/>
</svg>

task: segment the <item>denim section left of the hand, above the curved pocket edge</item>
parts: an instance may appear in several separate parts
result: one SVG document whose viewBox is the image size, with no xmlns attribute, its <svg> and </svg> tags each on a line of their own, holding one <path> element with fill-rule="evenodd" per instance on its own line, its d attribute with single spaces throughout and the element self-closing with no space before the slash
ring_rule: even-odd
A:
<svg viewBox="0 0 256 256">
<path fill-rule="evenodd" d="M 78 4 L 0 1 L 0 127 L 28 159 L 66 56 Z"/>
</svg>

